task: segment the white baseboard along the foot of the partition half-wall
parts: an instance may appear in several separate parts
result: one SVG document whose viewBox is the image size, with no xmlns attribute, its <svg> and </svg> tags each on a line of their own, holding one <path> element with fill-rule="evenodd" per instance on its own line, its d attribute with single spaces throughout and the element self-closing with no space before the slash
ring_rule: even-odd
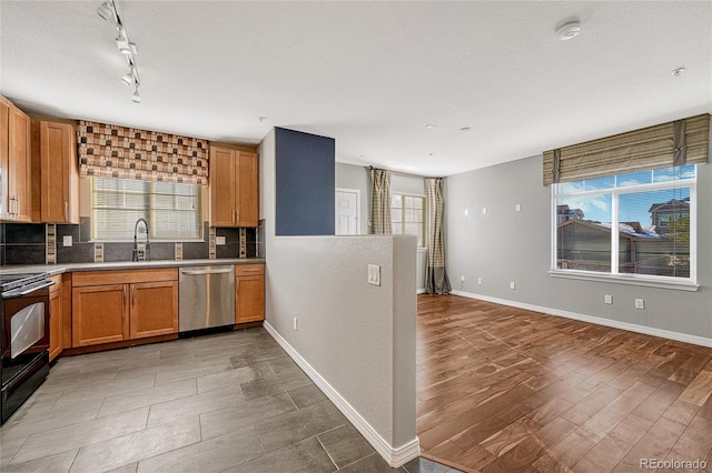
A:
<svg viewBox="0 0 712 473">
<path fill-rule="evenodd" d="M 294 346 L 291 346 L 269 322 L 265 321 L 264 328 L 392 467 L 402 466 L 421 454 L 421 443 L 417 436 L 405 445 L 393 447 L 338 391 L 301 358 Z"/>
</svg>

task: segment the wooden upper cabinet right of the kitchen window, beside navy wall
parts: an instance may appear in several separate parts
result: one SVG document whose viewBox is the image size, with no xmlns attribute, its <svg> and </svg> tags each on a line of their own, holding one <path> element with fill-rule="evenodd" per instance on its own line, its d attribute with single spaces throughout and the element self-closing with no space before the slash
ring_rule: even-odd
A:
<svg viewBox="0 0 712 473">
<path fill-rule="evenodd" d="M 210 227 L 257 227 L 257 153 L 210 145 Z"/>
</svg>

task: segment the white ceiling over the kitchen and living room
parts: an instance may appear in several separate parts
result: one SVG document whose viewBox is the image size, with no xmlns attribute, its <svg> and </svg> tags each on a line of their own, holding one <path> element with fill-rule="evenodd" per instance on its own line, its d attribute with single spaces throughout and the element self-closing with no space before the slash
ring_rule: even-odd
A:
<svg viewBox="0 0 712 473">
<path fill-rule="evenodd" d="M 335 138 L 339 162 L 423 175 L 712 110 L 710 1 L 117 0 L 140 104 L 99 3 L 2 0 L 1 93 L 224 142 L 290 128 Z M 582 33 L 556 40 L 572 19 Z"/>
</svg>

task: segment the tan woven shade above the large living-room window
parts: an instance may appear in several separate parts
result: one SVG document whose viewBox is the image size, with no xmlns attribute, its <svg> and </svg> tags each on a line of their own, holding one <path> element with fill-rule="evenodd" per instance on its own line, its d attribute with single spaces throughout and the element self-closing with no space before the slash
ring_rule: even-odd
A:
<svg viewBox="0 0 712 473">
<path fill-rule="evenodd" d="M 544 185 L 709 160 L 710 114 L 706 113 L 545 151 Z"/>
</svg>

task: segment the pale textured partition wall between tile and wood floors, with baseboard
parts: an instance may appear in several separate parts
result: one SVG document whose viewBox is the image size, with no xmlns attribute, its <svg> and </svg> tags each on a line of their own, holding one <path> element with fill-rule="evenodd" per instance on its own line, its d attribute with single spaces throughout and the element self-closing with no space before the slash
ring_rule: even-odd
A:
<svg viewBox="0 0 712 473">
<path fill-rule="evenodd" d="M 266 326 L 392 464 L 415 434 L 415 236 L 275 236 L 275 142 L 259 149 Z M 380 286 L 367 283 L 380 266 Z M 298 331 L 293 319 L 299 319 Z"/>
</svg>

